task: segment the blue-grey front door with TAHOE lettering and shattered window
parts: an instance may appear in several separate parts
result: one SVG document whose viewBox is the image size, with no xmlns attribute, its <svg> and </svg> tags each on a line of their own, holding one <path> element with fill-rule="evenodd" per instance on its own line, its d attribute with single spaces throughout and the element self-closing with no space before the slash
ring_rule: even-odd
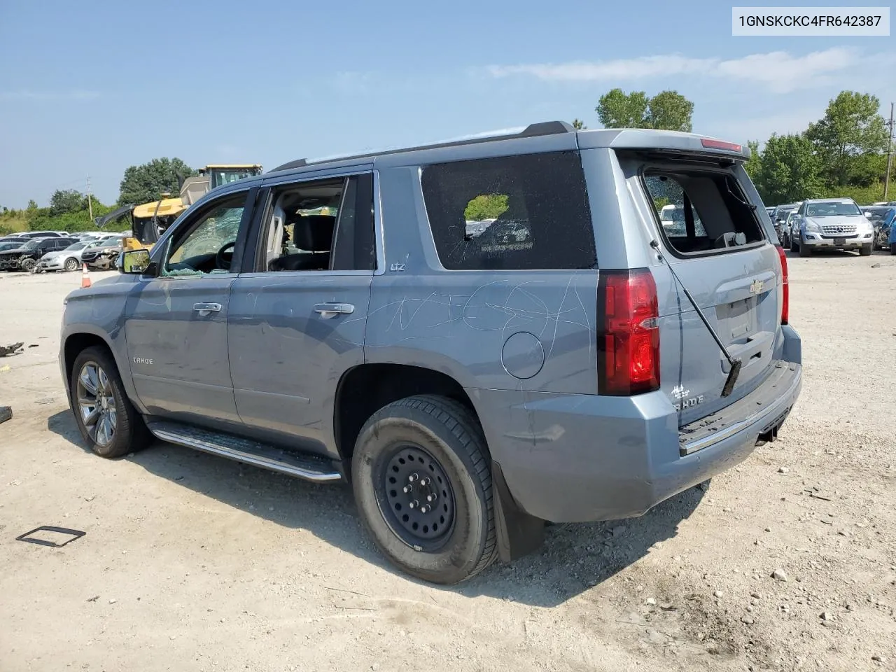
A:
<svg viewBox="0 0 896 672">
<path fill-rule="evenodd" d="M 153 254 L 158 273 L 143 278 L 128 301 L 134 387 L 152 415 L 211 426 L 239 422 L 227 321 L 237 278 L 234 248 L 245 235 L 254 194 L 221 196 L 180 222 Z"/>
</svg>

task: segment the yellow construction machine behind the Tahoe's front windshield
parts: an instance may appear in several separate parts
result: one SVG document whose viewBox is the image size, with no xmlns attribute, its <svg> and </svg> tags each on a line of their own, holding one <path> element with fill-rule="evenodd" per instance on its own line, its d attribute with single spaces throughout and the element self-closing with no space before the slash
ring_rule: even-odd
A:
<svg viewBox="0 0 896 672">
<path fill-rule="evenodd" d="M 102 228 L 111 219 L 130 215 L 132 235 L 122 240 L 122 248 L 151 249 L 165 229 L 211 189 L 261 174 L 262 167 L 257 163 L 210 163 L 205 168 L 199 168 L 199 175 L 179 179 L 178 197 L 172 197 L 168 193 L 159 194 L 161 198 L 158 201 L 119 208 L 105 218 L 98 218 L 96 223 Z"/>
</svg>

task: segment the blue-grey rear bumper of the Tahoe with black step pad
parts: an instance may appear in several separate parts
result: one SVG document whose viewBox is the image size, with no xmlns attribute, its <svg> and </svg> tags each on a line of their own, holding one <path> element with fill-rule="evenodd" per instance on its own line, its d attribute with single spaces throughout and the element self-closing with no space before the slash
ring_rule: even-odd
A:
<svg viewBox="0 0 896 672">
<path fill-rule="evenodd" d="M 774 438 L 801 386 L 802 366 L 781 361 L 768 380 L 719 418 L 703 418 L 713 428 L 686 426 L 682 432 L 662 392 L 470 395 L 514 502 L 547 521 L 578 522 L 642 515 L 734 467 L 757 442 Z"/>
</svg>

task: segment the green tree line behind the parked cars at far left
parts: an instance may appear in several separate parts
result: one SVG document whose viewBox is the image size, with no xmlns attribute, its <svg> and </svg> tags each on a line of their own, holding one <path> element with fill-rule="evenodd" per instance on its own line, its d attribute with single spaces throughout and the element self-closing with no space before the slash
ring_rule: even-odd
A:
<svg viewBox="0 0 896 672">
<path fill-rule="evenodd" d="M 23 210 L 0 208 L 0 236 L 19 231 L 90 231 L 97 228 L 90 219 L 102 217 L 117 206 L 158 201 L 162 194 L 177 196 L 180 184 L 186 177 L 196 175 L 196 171 L 181 159 L 152 159 L 140 166 L 131 166 L 118 185 L 118 200 L 107 205 L 95 196 L 82 194 L 76 189 L 56 189 L 50 196 L 47 207 L 39 207 L 33 199 Z M 90 201 L 88 200 L 90 199 Z M 128 220 L 111 222 L 106 227 L 110 231 L 121 231 L 130 227 Z"/>
</svg>

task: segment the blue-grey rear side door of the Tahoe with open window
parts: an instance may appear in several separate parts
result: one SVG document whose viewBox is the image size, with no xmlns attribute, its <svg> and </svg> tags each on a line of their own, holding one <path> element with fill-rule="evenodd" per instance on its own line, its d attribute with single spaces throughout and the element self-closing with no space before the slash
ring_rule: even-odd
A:
<svg viewBox="0 0 896 672">
<path fill-rule="evenodd" d="M 324 452 L 340 376 L 364 362 L 376 271 L 371 171 L 271 185 L 234 283 L 228 349 L 240 418 Z"/>
</svg>

